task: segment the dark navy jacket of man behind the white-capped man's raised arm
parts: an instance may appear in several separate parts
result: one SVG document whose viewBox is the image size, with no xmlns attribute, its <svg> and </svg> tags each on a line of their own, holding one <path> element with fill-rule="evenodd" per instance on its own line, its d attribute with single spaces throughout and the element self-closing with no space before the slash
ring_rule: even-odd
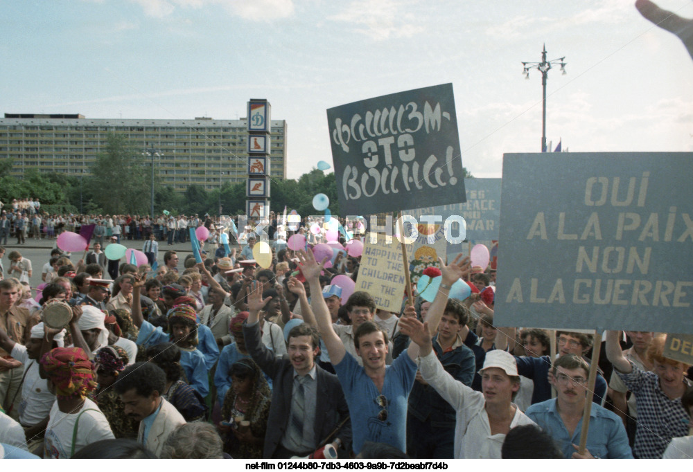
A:
<svg viewBox="0 0 693 472">
<path fill-rule="evenodd" d="M 443 353 L 436 336 L 433 339 L 433 350 L 446 372 L 464 385 L 471 385 L 475 372 L 474 353 L 461 345 L 450 352 Z M 438 428 L 455 428 L 455 409 L 445 401 L 430 385 L 414 381 L 414 387 L 409 394 L 407 412 L 419 421 L 428 421 L 431 426 Z"/>
</svg>

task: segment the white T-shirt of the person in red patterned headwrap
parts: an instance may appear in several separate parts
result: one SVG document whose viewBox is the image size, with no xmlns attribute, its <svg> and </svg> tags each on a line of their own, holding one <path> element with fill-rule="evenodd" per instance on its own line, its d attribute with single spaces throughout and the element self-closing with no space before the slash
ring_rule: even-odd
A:
<svg viewBox="0 0 693 472">
<path fill-rule="evenodd" d="M 87 411 L 80 417 L 75 444 L 76 453 L 92 442 L 101 441 L 102 439 L 115 439 L 108 420 L 93 401 L 85 399 L 84 406 L 78 412 L 63 413 L 58 408 L 58 401 L 56 400 L 53 403 L 53 408 L 51 408 L 51 418 L 46 427 L 44 458 L 69 459 L 71 457 L 72 435 L 75 424 L 80 412 L 84 410 L 97 411 Z"/>
</svg>

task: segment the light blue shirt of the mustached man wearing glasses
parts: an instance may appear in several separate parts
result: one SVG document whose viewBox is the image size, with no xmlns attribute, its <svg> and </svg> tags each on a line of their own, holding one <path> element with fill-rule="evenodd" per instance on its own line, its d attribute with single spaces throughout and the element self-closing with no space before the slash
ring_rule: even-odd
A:
<svg viewBox="0 0 693 472">
<path fill-rule="evenodd" d="M 556 399 L 534 403 L 525 412 L 532 421 L 554 438 L 566 459 L 575 452 L 573 444 L 580 444 L 582 419 L 572 435 L 565 429 L 563 419 L 556 410 Z M 633 459 L 628 435 L 623 421 L 613 412 L 593 405 L 590 410 L 590 426 L 587 433 L 587 450 L 599 459 Z"/>
</svg>

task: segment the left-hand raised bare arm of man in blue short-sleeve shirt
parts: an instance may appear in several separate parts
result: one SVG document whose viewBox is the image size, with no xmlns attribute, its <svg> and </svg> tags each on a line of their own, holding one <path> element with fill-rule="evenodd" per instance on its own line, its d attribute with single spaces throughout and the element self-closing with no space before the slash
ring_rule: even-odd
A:
<svg viewBox="0 0 693 472">
<path fill-rule="evenodd" d="M 330 310 L 327 308 L 325 299 L 319 295 L 322 293 L 322 288 L 320 287 L 320 272 L 322 271 L 323 264 L 329 260 L 329 257 L 325 257 L 320 264 L 315 260 L 312 251 L 297 251 L 297 257 L 301 264 L 301 272 L 310 286 L 310 293 L 317 295 L 310 298 L 310 307 L 313 308 L 313 314 L 315 314 L 317 331 L 320 333 L 320 336 L 322 336 L 322 341 L 324 341 L 327 347 L 327 353 L 330 355 L 333 365 L 338 364 L 342 361 L 342 358 L 344 358 L 344 354 L 347 353 L 347 350 L 344 348 L 342 340 L 337 336 L 335 329 L 332 327 L 332 317 L 330 316 Z"/>
</svg>

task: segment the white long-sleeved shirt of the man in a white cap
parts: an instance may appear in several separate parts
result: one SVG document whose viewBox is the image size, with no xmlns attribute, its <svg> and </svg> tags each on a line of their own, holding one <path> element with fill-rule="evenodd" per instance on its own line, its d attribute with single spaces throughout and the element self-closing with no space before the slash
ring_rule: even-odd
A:
<svg viewBox="0 0 693 472">
<path fill-rule="evenodd" d="M 500 459 L 505 435 L 491 435 L 484 394 L 453 379 L 438 361 L 435 352 L 420 358 L 419 370 L 423 380 L 455 408 L 455 459 Z M 534 424 L 534 421 L 516 408 L 510 428 L 523 424 Z"/>
</svg>

